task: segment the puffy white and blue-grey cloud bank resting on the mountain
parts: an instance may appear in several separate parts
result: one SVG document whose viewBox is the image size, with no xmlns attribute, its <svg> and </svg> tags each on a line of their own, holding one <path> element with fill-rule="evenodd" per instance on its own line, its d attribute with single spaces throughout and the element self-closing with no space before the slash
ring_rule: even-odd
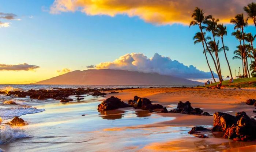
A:
<svg viewBox="0 0 256 152">
<path fill-rule="evenodd" d="M 177 60 L 171 60 L 169 57 L 161 56 L 158 53 L 155 53 L 150 59 L 142 53 L 130 53 L 120 56 L 113 62 L 100 63 L 95 68 L 159 73 L 161 75 L 171 75 L 185 79 L 211 78 L 211 72 L 200 71 L 193 65 L 189 65 L 188 67 Z M 216 73 L 214 75 L 218 77 Z"/>
</svg>

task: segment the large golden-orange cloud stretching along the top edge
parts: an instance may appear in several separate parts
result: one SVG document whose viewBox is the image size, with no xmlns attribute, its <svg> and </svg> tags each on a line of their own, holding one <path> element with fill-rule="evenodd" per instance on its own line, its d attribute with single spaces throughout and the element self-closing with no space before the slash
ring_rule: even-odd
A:
<svg viewBox="0 0 256 152">
<path fill-rule="evenodd" d="M 238 13 L 251 0 L 55 0 L 50 13 L 81 11 L 87 15 L 138 16 L 148 23 L 189 24 L 191 13 L 200 7 L 223 23 Z"/>
</svg>

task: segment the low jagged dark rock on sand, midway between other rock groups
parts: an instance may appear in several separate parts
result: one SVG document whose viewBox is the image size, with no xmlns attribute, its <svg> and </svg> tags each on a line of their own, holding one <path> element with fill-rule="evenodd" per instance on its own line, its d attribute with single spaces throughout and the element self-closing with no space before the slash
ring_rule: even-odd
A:
<svg viewBox="0 0 256 152">
<path fill-rule="evenodd" d="M 186 101 L 185 103 L 182 103 L 182 101 L 178 102 L 178 106 L 176 109 L 171 110 L 172 113 L 183 113 L 188 115 L 206 115 L 210 116 L 208 112 L 203 112 L 200 108 L 193 108 L 191 107 L 191 104 L 189 101 Z"/>
</svg>

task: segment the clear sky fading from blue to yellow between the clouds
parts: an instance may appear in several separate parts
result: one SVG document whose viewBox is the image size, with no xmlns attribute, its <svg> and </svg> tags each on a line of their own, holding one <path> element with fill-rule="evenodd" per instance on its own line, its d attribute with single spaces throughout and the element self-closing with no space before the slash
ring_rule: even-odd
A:
<svg viewBox="0 0 256 152">
<path fill-rule="evenodd" d="M 49 10 L 53 0 L 0 0 L 0 4 L 1 12 L 14 13 L 21 19 L 10 21 L 10 27 L 0 28 L 0 64 L 28 63 L 40 67 L 36 72 L 0 71 L 4 76 L 33 75 L 15 81 L 11 77 L 0 83 L 44 80 L 57 76 L 56 70 L 83 70 L 87 65 L 113 61 L 132 52 L 149 58 L 158 53 L 209 71 L 202 45 L 193 43 L 192 38 L 199 31 L 197 27 L 156 25 L 127 15 L 88 16 L 80 11 L 52 14 Z M 227 24 L 227 31 L 224 41 L 230 48 L 227 56 L 234 73 L 241 66 L 240 60 L 232 60 L 239 42 L 231 36 L 233 25 Z M 247 27 L 247 31 L 256 33 L 254 26 Z M 223 52 L 220 60 L 223 76 L 229 75 Z"/>
</svg>

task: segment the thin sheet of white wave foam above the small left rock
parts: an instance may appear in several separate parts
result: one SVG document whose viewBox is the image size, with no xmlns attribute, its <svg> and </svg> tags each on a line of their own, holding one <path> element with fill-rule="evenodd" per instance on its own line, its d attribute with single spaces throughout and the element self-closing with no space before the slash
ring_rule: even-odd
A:
<svg viewBox="0 0 256 152">
<path fill-rule="evenodd" d="M 22 115 L 27 115 L 31 113 L 38 113 L 45 111 L 45 109 L 37 109 L 34 107 L 19 107 L 19 108 L 10 108 L 10 109 L 1 109 L 0 117 L 3 120 L 11 119 L 15 116 L 19 117 Z"/>
</svg>

